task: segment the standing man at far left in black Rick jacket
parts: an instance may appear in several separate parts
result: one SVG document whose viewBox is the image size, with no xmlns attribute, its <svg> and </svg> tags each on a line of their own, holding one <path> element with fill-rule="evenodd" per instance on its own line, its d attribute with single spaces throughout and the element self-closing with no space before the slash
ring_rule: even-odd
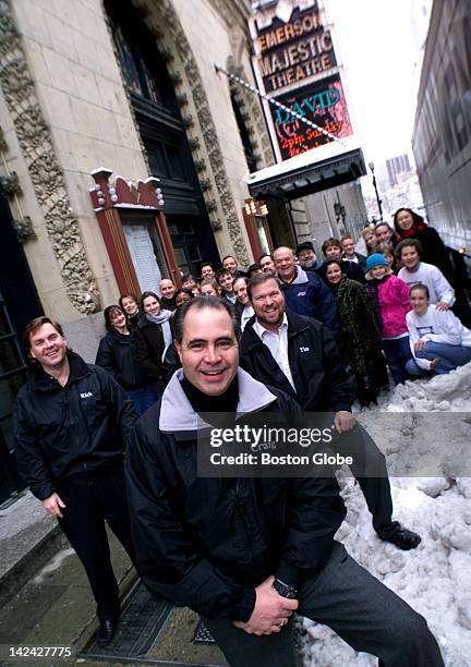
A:
<svg viewBox="0 0 471 667">
<path fill-rule="evenodd" d="M 25 344 L 33 368 L 14 408 L 19 470 L 85 568 L 100 621 L 98 643 L 106 646 L 120 602 L 105 520 L 134 558 L 123 452 L 135 414 L 107 371 L 67 349 L 52 319 L 33 319 Z"/>
</svg>

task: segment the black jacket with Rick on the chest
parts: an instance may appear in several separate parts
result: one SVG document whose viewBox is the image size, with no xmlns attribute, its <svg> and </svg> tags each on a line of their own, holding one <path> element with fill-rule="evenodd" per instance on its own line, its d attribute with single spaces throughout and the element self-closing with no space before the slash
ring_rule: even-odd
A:
<svg viewBox="0 0 471 667">
<path fill-rule="evenodd" d="M 20 474 L 39 500 L 53 493 L 55 480 L 121 464 L 135 422 L 132 403 L 109 373 L 68 355 L 67 385 L 39 367 L 13 410 Z"/>
</svg>

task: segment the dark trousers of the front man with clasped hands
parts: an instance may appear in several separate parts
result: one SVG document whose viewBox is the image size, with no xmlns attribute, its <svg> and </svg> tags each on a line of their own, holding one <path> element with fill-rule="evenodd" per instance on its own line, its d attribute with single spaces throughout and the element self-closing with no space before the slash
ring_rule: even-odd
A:
<svg viewBox="0 0 471 667">
<path fill-rule="evenodd" d="M 307 577 L 298 614 L 329 626 L 355 651 L 376 655 L 384 667 L 443 667 L 425 619 L 335 543 L 327 565 Z M 294 667 L 291 622 L 256 636 L 230 619 L 204 619 L 231 667 Z"/>
</svg>

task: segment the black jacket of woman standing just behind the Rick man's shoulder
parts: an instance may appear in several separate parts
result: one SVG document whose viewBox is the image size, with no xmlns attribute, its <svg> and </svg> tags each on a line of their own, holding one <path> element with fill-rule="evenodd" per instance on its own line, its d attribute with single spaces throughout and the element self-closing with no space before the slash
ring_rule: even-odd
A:
<svg viewBox="0 0 471 667">
<path fill-rule="evenodd" d="M 129 336 L 116 329 L 108 331 L 100 340 L 95 363 L 111 373 L 128 391 L 146 385 L 144 372 L 136 359 L 134 331 L 130 331 Z"/>
</svg>

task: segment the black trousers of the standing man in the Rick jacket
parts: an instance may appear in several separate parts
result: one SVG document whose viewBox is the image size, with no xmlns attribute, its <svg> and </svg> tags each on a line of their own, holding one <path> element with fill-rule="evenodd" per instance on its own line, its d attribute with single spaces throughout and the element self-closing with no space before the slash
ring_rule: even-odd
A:
<svg viewBox="0 0 471 667">
<path fill-rule="evenodd" d="M 122 468 L 105 468 L 56 483 L 65 504 L 59 524 L 82 561 L 97 603 L 100 620 L 120 615 L 105 521 L 134 561 L 131 524 Z"/>
</svg>

